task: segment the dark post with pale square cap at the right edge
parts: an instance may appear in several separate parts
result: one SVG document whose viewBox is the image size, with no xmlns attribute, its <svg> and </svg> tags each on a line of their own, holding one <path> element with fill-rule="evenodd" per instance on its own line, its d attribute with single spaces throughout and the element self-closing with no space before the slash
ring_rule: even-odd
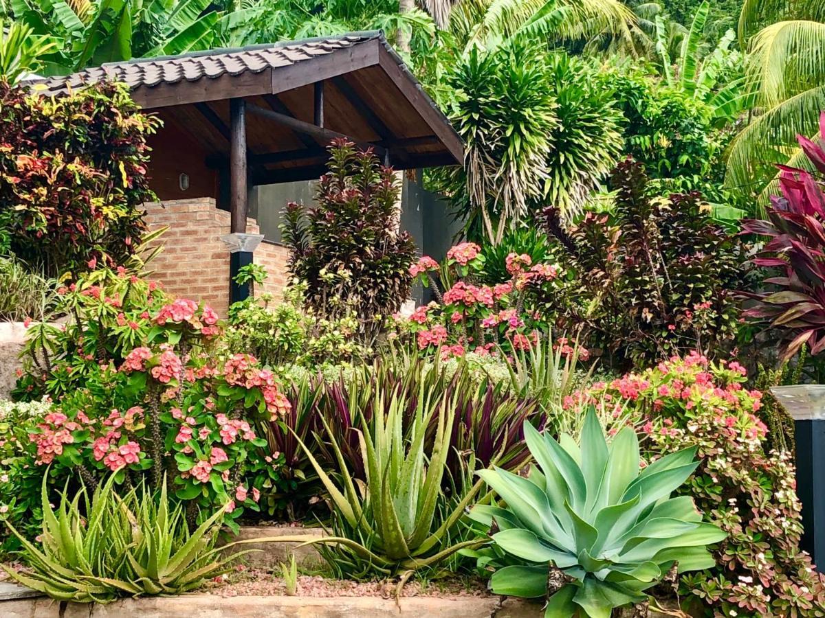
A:
<svg viewBox="0 0 825 618">
<path fill-rule="evenodd" d="M 774 386 L 771 393 L 794 419 L 796 493 L 804 527 L 801 545 L 821 572 L 825 567 L 825 384 Z"/>
</svg>

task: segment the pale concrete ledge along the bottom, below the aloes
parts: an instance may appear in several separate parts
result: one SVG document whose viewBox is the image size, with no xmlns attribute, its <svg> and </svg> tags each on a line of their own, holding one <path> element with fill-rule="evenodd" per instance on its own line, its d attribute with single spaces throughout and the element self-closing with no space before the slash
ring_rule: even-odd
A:
<svg viewBox="0 0 825 618">
<path fill-rule="evenodd" d="M 108 605 L 49 599 L 0 602 L 3 618 L 539 618 L 538 604 L 497 597 L 408 597 L 401 609 L 380 597 L 219 597 L 211 594 L 125 599 Z"/>
</svg>

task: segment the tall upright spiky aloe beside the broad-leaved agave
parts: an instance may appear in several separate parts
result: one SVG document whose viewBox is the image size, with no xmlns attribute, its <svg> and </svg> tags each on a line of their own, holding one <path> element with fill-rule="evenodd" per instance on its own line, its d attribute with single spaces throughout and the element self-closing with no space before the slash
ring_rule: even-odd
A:
<svg viewBox="0 0 825 618">
<path fill-rule="evenodd" d="M 483 483 L 463 490 L 464 495 L 447 499 L 441 489 L 449 453 L 450 433 L 456 410 L 456 395 L 433 396 L 422 386 L 412 418 L 408 400 L 397 390 L 376 389 L 370 420 L 361 415 L 357 433 L 365 465 L 365 483 L 352 474 L 339 445 L 341 436 L 323 419 L 328 441 L 335 454 L 339 481 L 300 442 L 318 478 L 329 494 L 332 507 L 331 536 L 302 545 L 321 545 L 322 555 L 337 574 L 349 578 L 400 575 L 399 588 L 415 572 L 437 568 L 459 550 L 483 545 L 469 539 L 452 542 L 464 509 Z M 411 423 L 404 426 L 405 417 Z M 436 430 L 427 437 L 435 420 Z M 427 448 L 427 444 L 431 444 Z M 306 537 L 275 536 L 262 541 L 306 541 Z"/>
</svg>

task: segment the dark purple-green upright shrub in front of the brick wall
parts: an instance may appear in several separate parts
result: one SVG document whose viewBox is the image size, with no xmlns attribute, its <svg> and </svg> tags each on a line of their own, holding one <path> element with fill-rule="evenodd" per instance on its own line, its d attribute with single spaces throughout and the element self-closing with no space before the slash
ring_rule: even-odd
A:
<svg viewBox="0 0 825 618">
<path fill-rule="evenodd" d="M 320 319 L 352 316 L 354 336 L 370 346 L 409 295 L 415 244 L 398 231 L 393 171 L 342 139 L 329 152 L 314 208 L 287 204 L 281 229 L 290 273 L 307 283 L 306 304 Z"/>
</svg>

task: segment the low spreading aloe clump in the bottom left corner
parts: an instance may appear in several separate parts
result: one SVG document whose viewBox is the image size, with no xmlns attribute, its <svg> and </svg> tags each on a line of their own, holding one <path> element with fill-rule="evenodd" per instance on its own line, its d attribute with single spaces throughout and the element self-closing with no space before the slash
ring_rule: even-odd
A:
<svg viewBox="0 0 825 618">
<path fill-rule="evenodd" d="M 106 603 L 117 597 L 172 595 L 200 588 L 229 570 L 239 555 L 216 548 L 223 511 L 189 531 L 180 505 L 170 508 L 163 483 L 158 496 L 141 486 L 121 498 L 114 475 L 89 499 L 64 492 L 57 512 L 45 480 L 42 549 L 13 527 L 31 572 L 2 568 L 17 582 L 59 601 Z"/>
</svg>

